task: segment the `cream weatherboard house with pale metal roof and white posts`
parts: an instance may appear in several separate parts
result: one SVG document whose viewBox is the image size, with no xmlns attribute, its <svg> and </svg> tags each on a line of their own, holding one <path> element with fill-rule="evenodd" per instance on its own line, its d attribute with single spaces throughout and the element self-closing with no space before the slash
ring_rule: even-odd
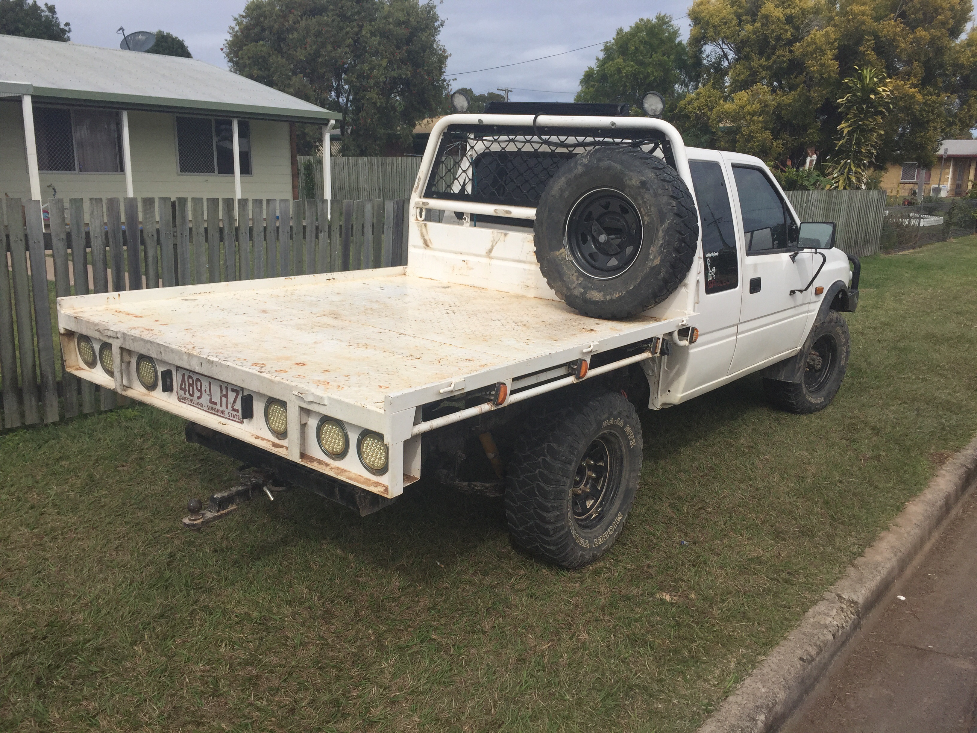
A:
<svg viewBox="0 0 977 733">
<path fill-rule="evenodd" d="M 296 198 L 295 124 L 339 117 L 194 59 L 0 35 L 9 196 Z"/>
</svg>

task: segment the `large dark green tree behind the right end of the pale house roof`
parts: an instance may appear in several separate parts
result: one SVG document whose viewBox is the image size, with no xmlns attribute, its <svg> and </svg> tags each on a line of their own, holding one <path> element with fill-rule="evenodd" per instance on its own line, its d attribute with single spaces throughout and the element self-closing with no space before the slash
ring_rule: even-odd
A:
<svg viewBox="0 0 977 733">
<path fill-rule="evenodd" d="M 381 155 L 408 150 L 417 121 L 442 108 L 442 25 L 417 0 L 250 0 L 225 55 L 242 76 L 342 112 L 343 154 Z"/>
</svg>

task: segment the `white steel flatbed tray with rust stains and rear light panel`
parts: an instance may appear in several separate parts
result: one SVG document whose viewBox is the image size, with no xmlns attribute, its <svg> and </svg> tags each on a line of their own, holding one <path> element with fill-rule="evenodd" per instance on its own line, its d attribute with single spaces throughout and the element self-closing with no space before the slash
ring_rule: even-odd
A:
<svg viewBox="0 0 977 733">
<path fill-rule="evenodd" d="M 420 406 L 650 340 L 680 321 L 591 319 L 559 301 L 420 278 L 403 267 L 75 296 L 59 299 L 58 312 L 63 333 L 111 343 L 116 364 L 146 354 L 161 368 L 253 392 L 255 416 L 237 425 L 149 393 L 131 367 L 114 377 L 88 369 L 65 342 L 68 370 L 385 496 L 419 473 L 419 436 L 410 431 Z M 337 467 L 313 455 L 308 435 L 270 440 L 262 416 L 269 397 L 288 405 L 289 425 L 328 414 L 381 433 L 391 468 L 403 460 L 401 471 L 375 479 L 349 457 Z"/>
</svg>

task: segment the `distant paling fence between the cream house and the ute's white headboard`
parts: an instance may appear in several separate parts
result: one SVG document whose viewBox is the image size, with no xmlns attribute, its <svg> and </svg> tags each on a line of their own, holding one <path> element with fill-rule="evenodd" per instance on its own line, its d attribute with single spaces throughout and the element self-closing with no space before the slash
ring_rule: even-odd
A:
<svg viewBox="0 0 977 733">
<path fill-rule="evenodd" d="M 322 158 L 302 156 L 299 192 L 322 197 Z M 333 198 L 409 198 L 421 159 L 404 157 L 347 157 L 331 160 Z M 311 176 L 311 178 L 310 178 Z"/>
</svg>

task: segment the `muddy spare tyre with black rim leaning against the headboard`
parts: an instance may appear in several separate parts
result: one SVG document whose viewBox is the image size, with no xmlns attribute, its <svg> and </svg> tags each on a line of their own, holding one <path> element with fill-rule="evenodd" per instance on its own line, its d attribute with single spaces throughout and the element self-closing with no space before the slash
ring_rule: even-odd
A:
<svg viewBox="0 0 977 733">
<path fill-rule="evenodd" d="M 636 148 L 595 148 L 553 176 L 536 206 L 536 260 L 585 316 L 622 319 L 671 295 L 692 267 L 696 204 L 678 173 Z"/>
</svg>

